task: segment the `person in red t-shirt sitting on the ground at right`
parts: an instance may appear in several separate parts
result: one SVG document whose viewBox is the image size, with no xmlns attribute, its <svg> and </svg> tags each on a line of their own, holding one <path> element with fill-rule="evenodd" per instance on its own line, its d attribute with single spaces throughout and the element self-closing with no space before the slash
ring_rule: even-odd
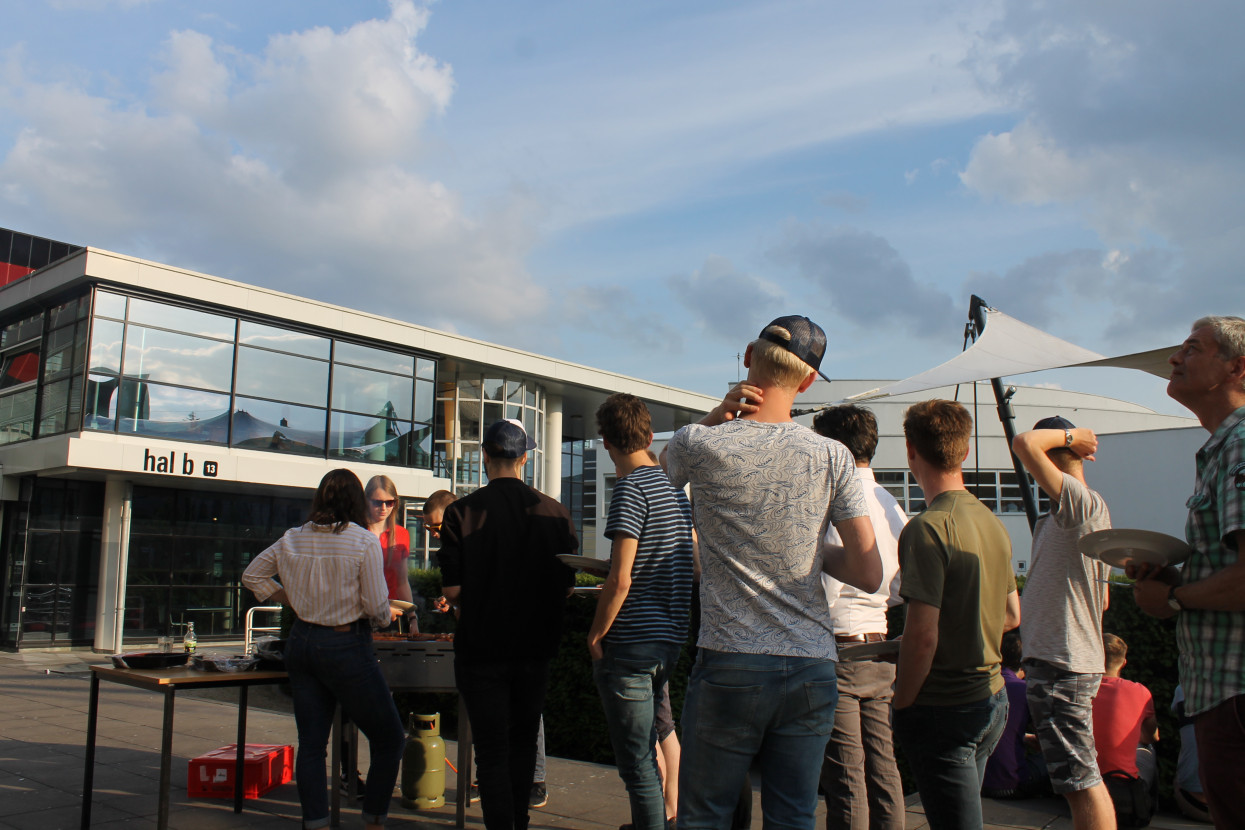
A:
<svg viewBox="0 0 1245 830">
<path fill-rule="evenodd" d="M 1150 815 L 1135 815 L 1135 799 L 1129 788 L 1113 786 L 1111 779 L 1124 776 L 1144 781 L 1152 795 L 1150 814 L 1158 794 L 1155 779 L 1158 762 L 1154 747 L 1159 739 L 1159 722 L 1154 716 L 1154 697 L 1140 683 L 1119 676 L 1128 664 L 1128 643 L 1112 633 L 1102 636 L 1106 653 L 1106 673 L 1093 701 L 1093 738 L 1098 748 L 1098 769 L 1108 779 L 1107 789 L 1116 804 L 1116 816 L 1120 826 L 1144 826 Z M 1138 824 L 1140 821 L 1142 824 Z"/>
</svg>

